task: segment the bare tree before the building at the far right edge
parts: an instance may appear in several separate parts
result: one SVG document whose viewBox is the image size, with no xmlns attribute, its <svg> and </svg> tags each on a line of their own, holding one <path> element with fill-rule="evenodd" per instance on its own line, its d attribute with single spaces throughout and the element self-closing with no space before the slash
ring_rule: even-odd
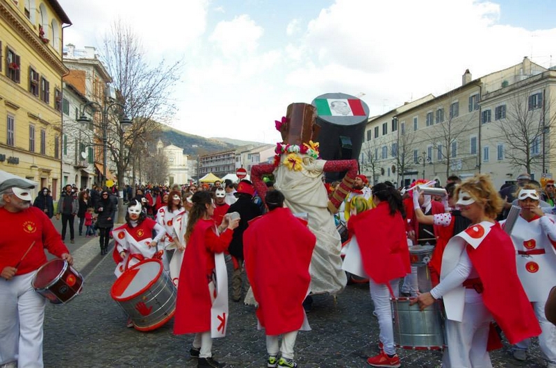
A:
<svg viewBox="0 0 556 368">
<path fill-rule="evenodd" d="M 523 167 L 526 172 L 533 172 L 533 167 L 541 167 L 554 158 L 550 149 L 550 140 L 546 140 L 548 131 L 553 126 L 556 115 L 547 113 L 548 108 L 543 93 L 532 94 L 528 90 L 514 94 L 504 109 L 500 124 L 496 125 L 502 140 L 509 149 L 505 156 L 512 167 Z M 550 106 L 553 107 L 553 106 Z M 496 113 L 496 111 L 495 111 Z M 542 146 L 542 147 L 541 147 Z"/>
</svg>

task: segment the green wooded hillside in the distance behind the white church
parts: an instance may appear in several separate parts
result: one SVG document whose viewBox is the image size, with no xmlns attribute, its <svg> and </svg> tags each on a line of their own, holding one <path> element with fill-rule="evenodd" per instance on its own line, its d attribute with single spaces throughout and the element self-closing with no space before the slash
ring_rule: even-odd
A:
<svg viewBox="0 0 556 368">
<path fill-rule="evenodd" d="M 228 151 L 237 147 L 236 144 L 185 133 L 163 124 L 160 139 L 164 146 L 174 144 L 174 146 L 182 148 L 184 154 L 190 156 Z"/>
</svg>

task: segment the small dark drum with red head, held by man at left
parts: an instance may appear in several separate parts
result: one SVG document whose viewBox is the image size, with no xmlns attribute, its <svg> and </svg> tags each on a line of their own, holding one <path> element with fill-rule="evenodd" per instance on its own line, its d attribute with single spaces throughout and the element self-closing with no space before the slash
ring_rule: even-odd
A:
<svg viewBox="0 0 556 368">
<path fill-rule="evenodd" d="M 31 285 L 51 303 L 63 304 L 81 294 L 83 276 L 67 260 L 55 258 L 38 269 Z"/>
</svg>

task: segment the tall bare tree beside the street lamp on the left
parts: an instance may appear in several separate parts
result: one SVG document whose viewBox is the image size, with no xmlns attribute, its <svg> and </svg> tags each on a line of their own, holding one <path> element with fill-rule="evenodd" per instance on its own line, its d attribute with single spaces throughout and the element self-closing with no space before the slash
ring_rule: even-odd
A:
<svg viewBox="0 0 556 368">
<path fill-rule="evenodd" d="M 161 60 L 158 65 L 149 65 L 138 36 L 121 21 L 116 21 L 106 33 L 101 60 L 113 78 L 116 101 L 125 108 L 113 108 L 108 115 L 108 150 L 121 185 L 132 160 L 131 154 L 126 153 L 133 153 L 136 144 L 158 137 L 158 122 L 168 122 L 176 111 L 168 95 L 179 79 L 181 62 L 166 65 Z M 128 132 L 120 129 L 123 115 L 133 120 Z"/>
</svg>

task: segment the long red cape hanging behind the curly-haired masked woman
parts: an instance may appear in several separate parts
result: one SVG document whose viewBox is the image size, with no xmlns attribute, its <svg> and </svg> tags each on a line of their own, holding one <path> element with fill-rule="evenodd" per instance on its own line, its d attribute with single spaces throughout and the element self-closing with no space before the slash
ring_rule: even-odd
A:
<svg viewBox="0 0 556 368">
<path fill-rule="evenodd" d="M 517 275 L 514 244 L 500 224 L 497 222 L 491 227 L 477 249 L 471 245 L 466 249 L 482 281 L 484 306 L 509 343 L 516 344 L 539 335 L 539 321 Z"/>
</svg>

